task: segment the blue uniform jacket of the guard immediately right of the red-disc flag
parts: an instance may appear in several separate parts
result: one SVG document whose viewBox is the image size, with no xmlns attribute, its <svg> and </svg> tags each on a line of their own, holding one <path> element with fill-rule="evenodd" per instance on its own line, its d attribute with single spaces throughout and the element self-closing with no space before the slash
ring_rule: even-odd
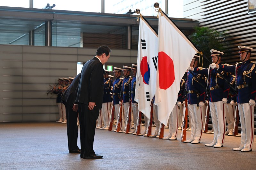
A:
<svg viewBox="0 0 256 170">
<path fill-rule="evenodd" d="M 197 69 L 198 67 L 196 67 Z M 196 81 L 196 78 L 201 82 L 201 84 L 205 85 L 205 76 L 204 74 L 194 73 L 196 78 L 188 72 L 188 79 L 187 79 L 187 91 L 193 91 L 193 93 L 188 92 L 188 104 L 198 104 L 200 101 L 205 102 L 205 90 L 204 88 Z M 205 86 L 206 88 L 206 86 Z M 197 101 L 197 93 L 199 95 L 199 99 Z M 222 98 L 221 98 L 222 100 Z"/>
</svg>

